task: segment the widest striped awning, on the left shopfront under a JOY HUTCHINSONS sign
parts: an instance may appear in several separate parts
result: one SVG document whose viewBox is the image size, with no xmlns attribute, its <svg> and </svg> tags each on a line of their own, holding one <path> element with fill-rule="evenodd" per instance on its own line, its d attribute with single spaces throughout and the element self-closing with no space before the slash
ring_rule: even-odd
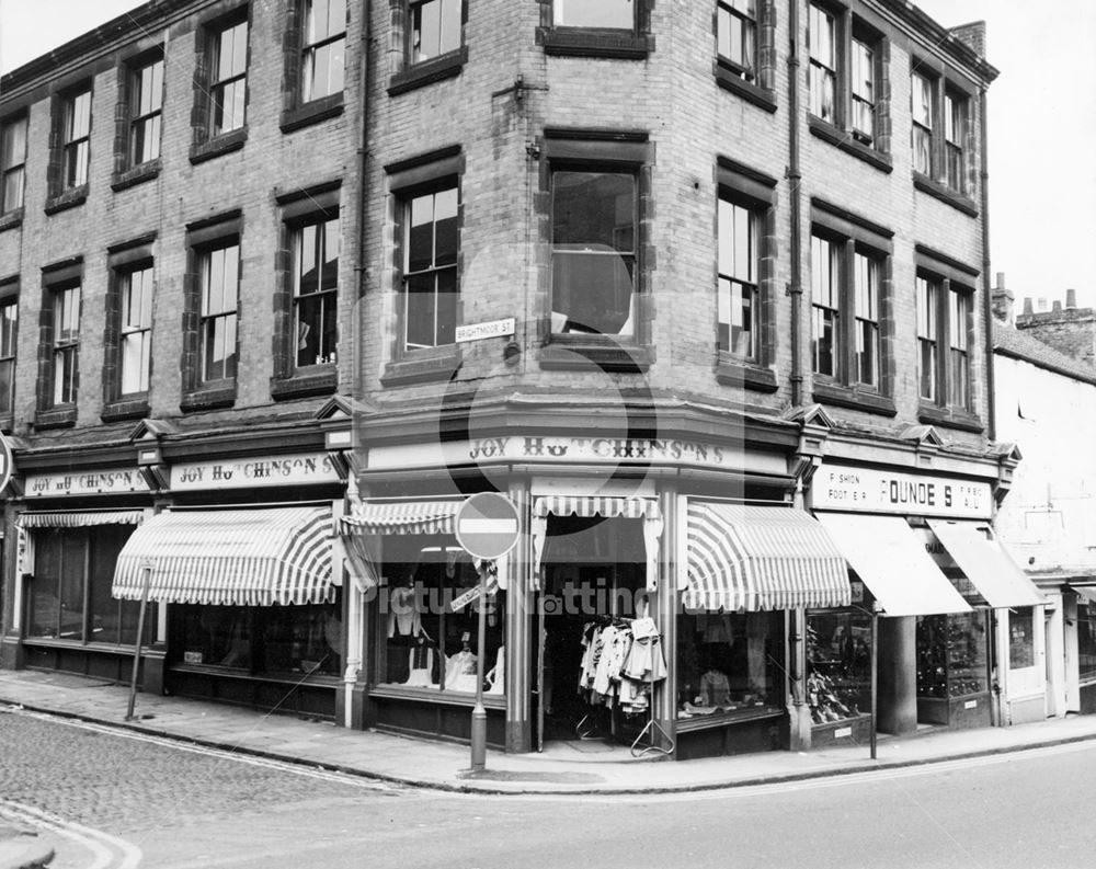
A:
<svg viewBox="0 0 1096 869">
<path fill-rule="evenodd" d="M 148 519 L 118 556 L 114 597 L 168 604 L 334 602 L 330 507 L 172 511 Z"/>
</svg>

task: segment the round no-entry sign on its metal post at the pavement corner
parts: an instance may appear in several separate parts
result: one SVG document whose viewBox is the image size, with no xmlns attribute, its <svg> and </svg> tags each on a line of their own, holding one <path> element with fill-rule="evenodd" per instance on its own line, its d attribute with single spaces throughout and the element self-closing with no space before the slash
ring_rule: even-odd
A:
<svg viewBox="0 0 1096 869">
<path fill-rule="evenodd" d="M 517 544 L 521 528 L 514 502 L 498 492 L 471 495 L 457 511 L 457 542 L 472 558 L 493 561 Z M 483 708 L 483 634 L 487 631 L 488 565 L 480 565 L 479 633 L 476 638 L 476 707 L 472 709 L 471 768 L 482 771 L 487 765 L 487 709 Z"/>
</svg>

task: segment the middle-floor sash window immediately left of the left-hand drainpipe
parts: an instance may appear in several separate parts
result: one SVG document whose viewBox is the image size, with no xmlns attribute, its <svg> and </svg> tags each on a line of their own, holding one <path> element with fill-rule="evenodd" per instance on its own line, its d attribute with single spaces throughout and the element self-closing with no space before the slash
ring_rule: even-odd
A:
<svg viewBox="0 0 1096 869">
<path fill-rule="evenodd" d="M 335 361 L 339 218 L 304 224 L 293 237 L 293 322 L 299 368 Z"/>
</svg>

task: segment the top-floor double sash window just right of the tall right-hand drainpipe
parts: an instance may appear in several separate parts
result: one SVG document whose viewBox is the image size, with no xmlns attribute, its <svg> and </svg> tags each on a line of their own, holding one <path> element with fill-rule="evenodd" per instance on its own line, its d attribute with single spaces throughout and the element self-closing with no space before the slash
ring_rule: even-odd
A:
<svg viewBox="0 0 1096 869">
<path fill-rule="evenodd" d="M 886 39 L 846 7 L 811 3 L 808 55 L 811 115 L 840 134 L 838 145 L 887 153 Z"/>
</svg>

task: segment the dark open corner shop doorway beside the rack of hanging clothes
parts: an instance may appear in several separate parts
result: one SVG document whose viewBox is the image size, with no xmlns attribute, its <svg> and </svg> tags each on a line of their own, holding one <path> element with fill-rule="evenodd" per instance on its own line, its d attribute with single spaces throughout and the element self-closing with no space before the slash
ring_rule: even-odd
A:
<svg viewBox="0 0 1096 869">
<path fill-rule="evenodd" d="M 587 647 L 646 606 L 644 552 L 639 519 L 549 516 L 533 625 L 538 750 L 547 742 L 626 735 L 617 710 L 580 683 Z"/>
</svg>

